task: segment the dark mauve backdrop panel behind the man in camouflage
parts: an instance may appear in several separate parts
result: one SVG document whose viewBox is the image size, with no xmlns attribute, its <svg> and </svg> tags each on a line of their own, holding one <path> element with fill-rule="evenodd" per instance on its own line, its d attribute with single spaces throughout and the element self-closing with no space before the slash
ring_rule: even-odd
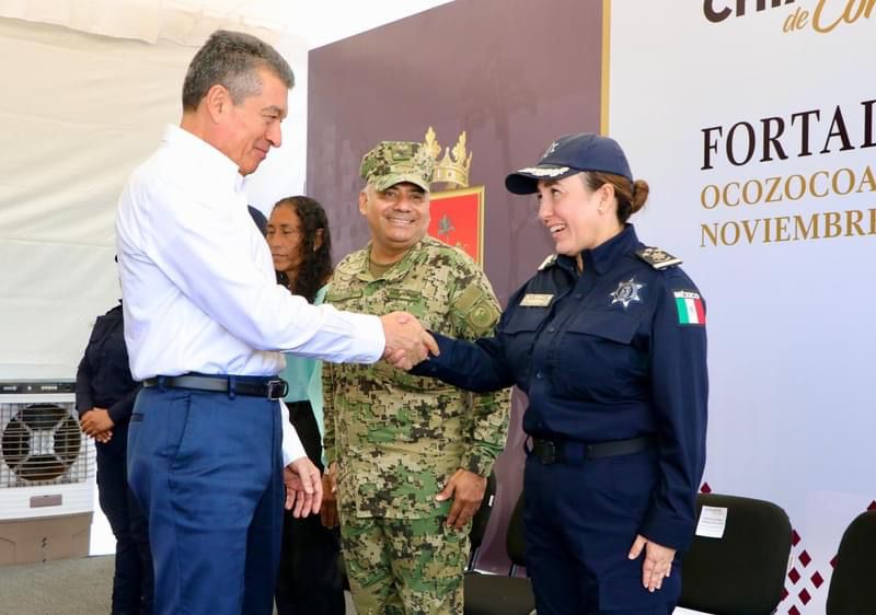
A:
<svg viewBox="0 0 876 615">
<path fill-rule="evenodd" d="M 485 186 L 484 269 L 504 305 L 553 252 L 534 198 L 506 193 L 505 175 L 533 164 L 560 135 L 599 131 L 602 4 L 456 0 L 312 50 L 307 192 L 328 211 L 335 259 L 368 241 L 356 205 L 368 149 L 423 141 L 429 126 L 452 148 L 465 130 L 470 184 Z M 505 531 L 522 481 L 525 407 L 517 392 L 477 561 L 484 570 L 508 570 Z"/>
</svg>

